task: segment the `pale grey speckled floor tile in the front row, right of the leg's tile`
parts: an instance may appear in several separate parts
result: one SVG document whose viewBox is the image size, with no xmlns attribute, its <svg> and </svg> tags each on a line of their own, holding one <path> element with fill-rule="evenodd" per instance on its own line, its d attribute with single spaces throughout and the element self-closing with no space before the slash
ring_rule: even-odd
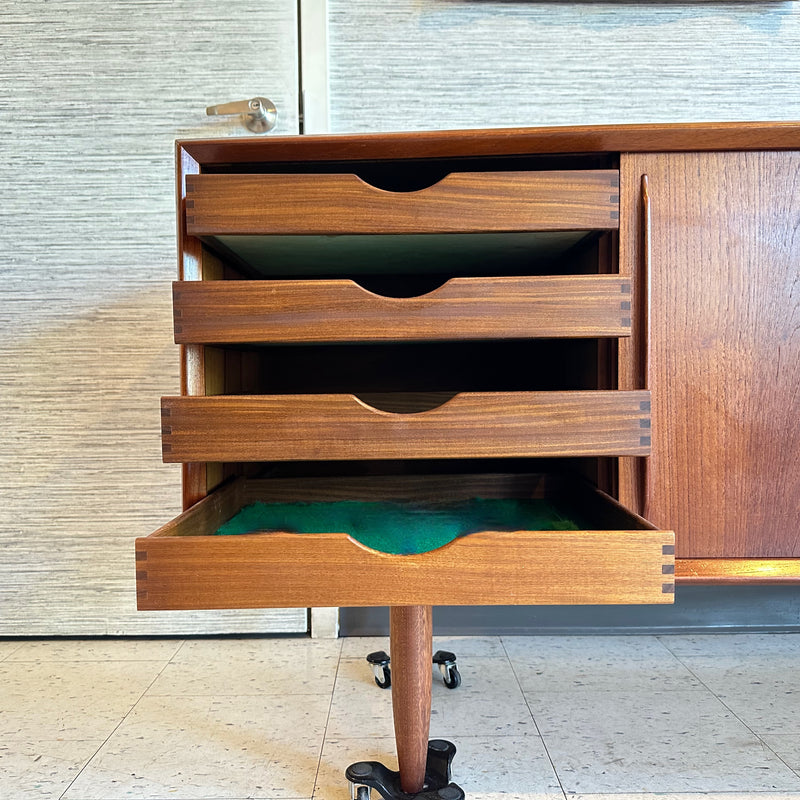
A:
<svg viewBox="0 0 800 800">
<path fill-rule="evenodd" d="M 800 791 L 711 693 L 528 693 L 567 793 Z"/>
</svg>

